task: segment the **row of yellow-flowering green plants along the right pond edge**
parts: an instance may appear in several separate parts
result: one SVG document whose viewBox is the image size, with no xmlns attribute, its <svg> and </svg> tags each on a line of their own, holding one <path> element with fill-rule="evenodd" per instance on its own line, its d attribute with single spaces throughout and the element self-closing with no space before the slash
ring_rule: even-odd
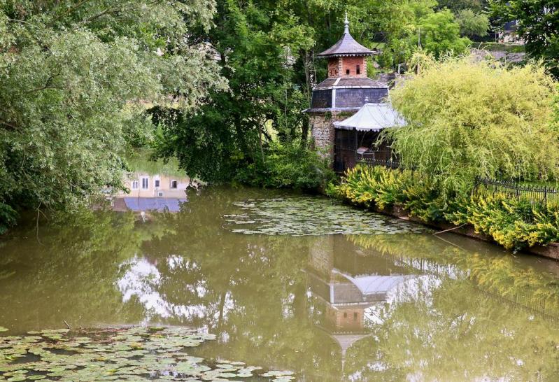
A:
<svg viewBox="0 0 559 382">
<path fill-rule="evenodd" d="M 423 222 L 473 225 L 504 248 L 521 248 L 559 241 L 559 205 L 516 201 L 505 195 L 447 199 L 428 179 L 409 170 L 360 165 L 346 171 L 328 194 L 365 208 L 402 206 Z"/>
</svg>

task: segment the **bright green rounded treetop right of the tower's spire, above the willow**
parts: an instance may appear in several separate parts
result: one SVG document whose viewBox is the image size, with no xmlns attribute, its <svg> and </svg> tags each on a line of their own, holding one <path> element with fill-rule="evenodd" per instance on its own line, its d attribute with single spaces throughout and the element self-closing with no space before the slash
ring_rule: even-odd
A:
<svg viewBox="0 0 559 382">
<path fill-rule="evenodd" d="M 448 52 L 460 55 L 472 43 L 468 38 L 460 37 L 460 24 L 450 10 L 441 10 L 423 17 L 417 28 L 418 33 L 411 36 L 411 43 L 420 45 L 425 52 L 435 57 Z"/>
</svg>

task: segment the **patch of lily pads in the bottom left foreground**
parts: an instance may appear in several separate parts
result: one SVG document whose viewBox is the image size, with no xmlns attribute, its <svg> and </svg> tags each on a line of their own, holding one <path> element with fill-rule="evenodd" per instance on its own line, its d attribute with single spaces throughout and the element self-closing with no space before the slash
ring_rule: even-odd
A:
<svg viewBox="0 0 559 382">
<path fill-rule="evenodd" d="M 41 336 L 0 337 L 0 379 L 7 381 L 225 381 L 253 376 L 259 367 L 220 360 L 209 363 L 185 353 L 215 339 L 185 327 L 130 327 L 70 332 L 43 330 Z M 53 338 L 49 334 L 59 334 Z M 87 337 L 84 336 L 87 334 Z M 79 336 L 79 337 L 78 337 Z M 38 360 L 29 355 L 38 356 Z M 12 362 L 16 360 L 17 362 Z M 267 372 L 257 381 L 292 372 Z"/>
</svg>

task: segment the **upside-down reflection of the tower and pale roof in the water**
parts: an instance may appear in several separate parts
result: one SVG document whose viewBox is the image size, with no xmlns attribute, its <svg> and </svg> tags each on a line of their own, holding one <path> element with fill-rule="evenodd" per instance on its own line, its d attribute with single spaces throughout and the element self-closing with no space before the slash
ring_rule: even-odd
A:
<svg viewBox="0 0 559 382">
<path fill-rule="evenodd" d="M 320 236 L 311 245 L 308 288 L 323 302 L 317 325 L 346 351 L 369 336 L 367 309 L 386 302 L 390 290 L 413 277 L 385 257 L 363 255 L 344 236 Z"/>
</svg>

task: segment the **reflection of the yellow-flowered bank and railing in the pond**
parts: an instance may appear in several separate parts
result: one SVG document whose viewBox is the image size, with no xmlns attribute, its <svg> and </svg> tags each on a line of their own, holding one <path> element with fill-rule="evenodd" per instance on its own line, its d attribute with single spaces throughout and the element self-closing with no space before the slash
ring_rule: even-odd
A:
<svg viewBox="0 0 559 382">
<path fill-rule="evenodd" d="M 523 264 L 517 257 L 491 255 L 483 243 L 472 248 L 449 246 L 432 235 L 348 236 L 363 248 L 399 258 L 423 271 L 441 271 L 466 276 L 478 288 L 504 301 L 519 304 L 548 316 L 559 317 L 559 283 L 554 274 Z M 429 268 L 431 267 L 431 269 Z M 442 268 L 445 269 L 442 269 Z"/>
</svg>

